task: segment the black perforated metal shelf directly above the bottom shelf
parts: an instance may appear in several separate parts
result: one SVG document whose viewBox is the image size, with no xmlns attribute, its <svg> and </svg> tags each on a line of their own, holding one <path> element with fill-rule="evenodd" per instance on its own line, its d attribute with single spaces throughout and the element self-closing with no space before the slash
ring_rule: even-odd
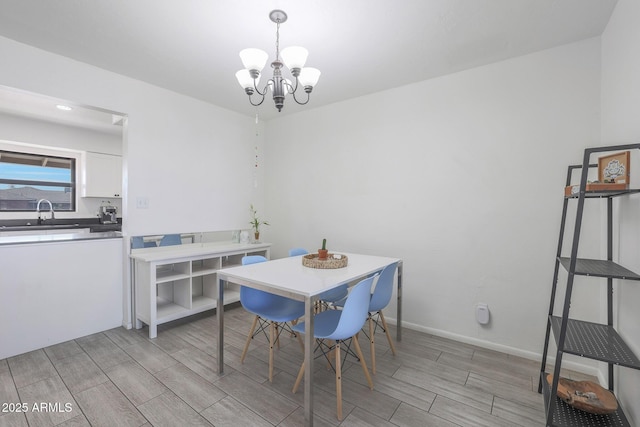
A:
<svg viewBox="0 0 640 427">
<path fill-rule="evenodd" d="M 551 316 L 553 336 L 558 345 L 562 318 Z M 612 326 L 569 319 L 563 352 L 640 369 L 640 360 Z"/>
</svg>

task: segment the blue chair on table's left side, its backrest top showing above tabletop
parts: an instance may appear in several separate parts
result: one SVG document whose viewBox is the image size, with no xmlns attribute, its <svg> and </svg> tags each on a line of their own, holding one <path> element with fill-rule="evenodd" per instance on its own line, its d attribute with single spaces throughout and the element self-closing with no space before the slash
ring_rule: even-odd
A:
<svg viewBox="0 0 640 427">
<path fill-rule="evenodd" d="M 265 261 L 267 261 L 267 259 L 261 255 L 248 255 L 242 258 L 242 265 Z M 295 322 L 304 316 L 304 302 L 295 301 L 259 289 L 241 286 L 240 303 L 249 313 L 255 314 L 249 335 L 247 336 L 247 342 L 240 357 L 240 363 L 244 362 L 251 340 L 260 332 L 267 336 L 266 330 L 268 328 L 269 382 L 273 382 L 273 346 L 279 343 L 280 334 L 283 330 L 294 333 L 287 323 Z M 259 327 L 256 329 L 258 325 Z M 298 338 L 300 347 L 304 349 L 300 335 L 294 335 Z"/>
</svg>

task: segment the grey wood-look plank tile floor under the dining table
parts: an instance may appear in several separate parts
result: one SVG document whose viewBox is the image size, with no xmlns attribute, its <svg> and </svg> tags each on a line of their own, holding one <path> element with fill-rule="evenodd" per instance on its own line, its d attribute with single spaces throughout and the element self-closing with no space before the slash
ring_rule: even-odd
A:
<svg viewBox="0 0 640 427">
<path fill-rule="evenodd" d="M 240 363 L 251 320 L 239 306 L 225 310 L 221 377 L 214 312 L 162 325 L 153 340 L 147 328 L 116 328 L 0 360 L 0 426 L 301 426 L 304 388 L 291 392 L 300 346 L 281 338 L 269 383 L 265 337 Z M 360 342 L 371 368 L 366 337 Z M 335 374 L 317 359 L 314 425 L 544 425 L 538 362 L 408 329 L 396 346 L 393 356 L 376 334 L 373 391 L 347 360 L 342 422 Z"/>
</svg>

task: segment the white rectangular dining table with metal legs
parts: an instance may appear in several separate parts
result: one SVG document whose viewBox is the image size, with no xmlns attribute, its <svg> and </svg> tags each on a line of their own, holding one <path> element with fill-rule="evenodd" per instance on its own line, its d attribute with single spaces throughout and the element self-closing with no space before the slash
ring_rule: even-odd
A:
<svg viewBox="0 0 640 427">
<path fill-rule="evenodd" d="M 339 253 L 339 252 L 338 252 Z M 348 258 L 347 266 L 336 269 L 310 268 L 302 265 L 302 256 L 230 267 L 218 270 L 218 375 L 224 370 L 224 288 L 225 282 L 236 283 L 282 295 L 305 303 L 304 336 L 304 419 L 313 426 L 313 311 L 318 295 L 343 284 L 355 284 L 387 265 L 398 263 L 396 339 L 400 340 L 402 321 L 402 260 L 375 255 L 341 253 Z"/>
</svg>

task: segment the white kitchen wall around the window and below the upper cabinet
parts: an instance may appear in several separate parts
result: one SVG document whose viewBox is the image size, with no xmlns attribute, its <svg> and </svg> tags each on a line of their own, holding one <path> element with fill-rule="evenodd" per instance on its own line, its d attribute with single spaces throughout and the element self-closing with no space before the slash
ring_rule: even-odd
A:
<svg viewBox="0 0 640 427">
<path fill-rule="evenodd" d="M 7 142 L 3 143 L 2 141 Z M 115 135 L 0 112 L 0 149 L 12 149 L 5 144 L 16 142 L 74 150 L 76 155 L 82 151 L 122 155 L 122 132 L 120 135 Z M 80 162 L 76 163 L 78 172 L 81 167 Z M 102 199 L 80 197 L 79 193 L 78 190 L 76 211 L 56 212 L 57 218 L 92 218 L 97 216 Z M 112 199 L 110 201 L 118 208 L 118 216 L 122 216 L 121 200 Z M 31 217 L 35 219 L 36 215 L 25 212 L 0 212 L 0 219 Z"/>
</svg>

